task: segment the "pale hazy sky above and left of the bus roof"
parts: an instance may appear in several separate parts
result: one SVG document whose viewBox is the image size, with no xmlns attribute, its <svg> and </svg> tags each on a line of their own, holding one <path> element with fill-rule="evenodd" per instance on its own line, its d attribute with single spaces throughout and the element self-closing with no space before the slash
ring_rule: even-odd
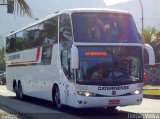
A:
<svg viewBox="0 0 160 119">
<path fill-rule="evenodd" d="M 71 1 L 69 3 L 68 1 Z M 109 5 L 127 2 L 129 0 L 80 0 L 77 4 L 75 0 L 26 0 L 31 7 L 34 18 L 30 19 L 27 16 L 20 17 L 14 14 L 8 14 L 6 6 L 0 6 L 0 36 L 5 37 L 11 31 L 18 30 L 34 21 L 53 13 L 67 8 L 75 7 L 102 7 L 106 8 Z M 38 5 L 37 5 L 38 2 Z M 63 4 L 62 4 L 63 3 Z M 90 3 L 89 5 L 87 3 Z M 57 8 L 58 7 L 58 8 Z M 2 46 L 2 39 L 0 39 L 0 48 Z"/>
</svg>

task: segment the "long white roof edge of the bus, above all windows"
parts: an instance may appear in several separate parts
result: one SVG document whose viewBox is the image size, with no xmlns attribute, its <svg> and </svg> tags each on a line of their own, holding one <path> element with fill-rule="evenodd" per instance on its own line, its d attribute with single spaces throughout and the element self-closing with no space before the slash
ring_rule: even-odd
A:
<svg viewBox="0 0 160 119">
<path fill-rule="evenodd" d="M 76 12 L 108 12 L 108 13 L 119 13 L 119 14 L 128 14 L 130 15 L 129 12 L 126 12 L 126 11 L 122 11 L 122 10 L 116 10 L 116 9 L 106 9 L 106 8 L 73 8 L 73 9 L 66 9 L 66 10 L 62 10 L 62 11 L 58 11 L 58 12 L 55 12 L 53 14 L 50 14 L 38 21 L 35 21 L 34 23 L 31 23 L 17 31 L 14 31 L 14 32 L 11 32 L 9 33 L 6 37 L 12 35 L 12 34 L 15 34 L 17 32 L 20 32 L 21 30 L 24 30 L 24 29 L 27 29 L 31 26 L 34 26 L 34 25 L 37 25 L 43 21 L 46 21 L 48 19 L 51 19 L 52 17 L 56 16 L 56 15 L 60 15 L 62 13 L 69 13 L 69 14 L 72 14 L 72 13 L 76 13 Z"/>
</svg>

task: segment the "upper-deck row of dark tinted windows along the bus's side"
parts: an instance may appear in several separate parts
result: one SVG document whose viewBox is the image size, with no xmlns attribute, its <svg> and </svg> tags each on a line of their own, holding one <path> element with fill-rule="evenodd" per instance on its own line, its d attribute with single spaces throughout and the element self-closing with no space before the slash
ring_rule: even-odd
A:
<svg viewBox="0 0 160 119">
<path fill-rule="evenodd" d="M 6 51 L 10 53 L 55 44 L 58 42 L 57 36 L 58 17 L 55 17 L 7 37 Z"/>
</svg>

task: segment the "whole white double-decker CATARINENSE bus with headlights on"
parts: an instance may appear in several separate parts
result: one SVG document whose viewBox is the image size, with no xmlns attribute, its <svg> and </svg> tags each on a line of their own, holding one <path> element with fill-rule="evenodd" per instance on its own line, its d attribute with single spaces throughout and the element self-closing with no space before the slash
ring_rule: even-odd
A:
<svg viewBox="0 0 160 119">
<path fill-rule="evenodd" d="M 6 37 L 7 88 L 59 109 L 139 105 L 144 48 L 153 64 L 127 12 L 64 10 Z"/>
</svg>

